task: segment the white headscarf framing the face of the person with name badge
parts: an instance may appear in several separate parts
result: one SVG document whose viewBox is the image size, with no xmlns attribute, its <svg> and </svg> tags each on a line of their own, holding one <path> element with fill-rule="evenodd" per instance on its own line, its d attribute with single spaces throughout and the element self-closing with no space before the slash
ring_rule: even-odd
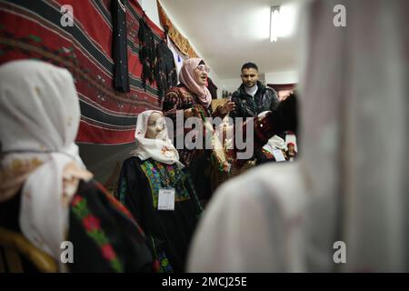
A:
<svg viewBox="0 0 409 291">
<path fill-rule="evenodd" d="M 179 162 L 179 153 L 168 137 L 165 121 L 165 127 L 159 139 L 145 138 L 149 116 L 153 113 L 163 115 L 161 111 L 156 110 L 146 110 L 138 115 L 135 129 L 136 148 L 131 152 L 131 156 L 137 156 L 143 161 L 153 158 L 167 165 L 177 164 L 185 167 Z"/>
</svg>

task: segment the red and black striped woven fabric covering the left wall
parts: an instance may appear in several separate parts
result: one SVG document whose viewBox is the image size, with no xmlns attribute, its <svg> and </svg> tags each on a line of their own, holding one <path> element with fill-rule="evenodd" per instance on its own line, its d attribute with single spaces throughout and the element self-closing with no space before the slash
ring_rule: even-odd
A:
<svg viewBox="0 0 409 291">
<path fill-rule="evenodd" d="M 73 7 L 73 26 L 61 25 L 62 5 Z M 136 0 L 125 5 L 131 92 L 114 89 L 110 7 L 111 0 L 0 0 L 0 64 L 29 58 L 68 69 L 80 99 L 80 143 L 130 143 L 138 113 L 160 108 L 156 84 L 145 91 L 141 82 L 137 37 L 144 13 Z M 146 22 L 159 42 L 163 32 Z"/>
</svg>

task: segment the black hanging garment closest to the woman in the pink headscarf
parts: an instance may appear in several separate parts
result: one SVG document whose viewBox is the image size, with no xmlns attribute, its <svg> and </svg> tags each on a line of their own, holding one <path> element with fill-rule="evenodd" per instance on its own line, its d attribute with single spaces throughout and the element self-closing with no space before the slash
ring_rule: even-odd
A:
<svg viewBox="0 0 409 291">
<path fill-rule="evenodd" d="M 165 41 L 161 41 L 156 45 L 155 80 L 160 102 L 164 98 L 166 91 L 170 87 L 177 85 L 174 54 L 167 47 Z"/>
</svg>

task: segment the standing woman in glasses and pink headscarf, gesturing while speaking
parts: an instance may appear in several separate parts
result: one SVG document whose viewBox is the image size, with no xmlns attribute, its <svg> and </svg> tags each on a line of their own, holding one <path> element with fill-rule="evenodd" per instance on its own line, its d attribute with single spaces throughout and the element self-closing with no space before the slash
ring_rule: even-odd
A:
<svg viewBox="0 0 409 291">
<path fill-rule="evenodd" d="M 210 72 L 208 66 L 200 58 L 189 58 L 185 60 L 184 65 L 179 73 L 180 84 L 171 87 L 165 95 L 163 102 L 163 111 L 165 116 L 170 117 L 176 123 L 176 115 L 183 117 L 183 126 L 185 118 L 199 117 L 221 117 L 224 118 L 230 111 L 234 109 L 234 102 L 226 102 L 224 105 L 218 106 L 214 112 L 212 111 L 211 102 L 212 96 L 206 87 L 207 74 Z M 181 131 L 179 129 L 179 131 Z M 199 150 L 196 146 L 193 149 L 185 148 L 176 143 L 177 128 L 174 129 L 174 145 L 179 151 L 180 161 L 187 166 L 189 172 L 193 176 L 198 196 L 203 200 L 208 199 L 211 194 L 208 178 L 204 176 L 205 167 L 208 165 L 209 155 L 205 151 Z M 186 131 L 184 135 L 186 134 Z M 184 139 L 185 141 L 185 136 Z"/>
</svg>

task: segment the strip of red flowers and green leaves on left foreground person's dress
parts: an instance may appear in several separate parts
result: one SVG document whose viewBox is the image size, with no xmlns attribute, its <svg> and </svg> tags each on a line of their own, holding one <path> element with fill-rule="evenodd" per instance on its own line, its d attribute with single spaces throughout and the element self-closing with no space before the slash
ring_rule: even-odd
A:
<svg viewBox="0 0 409 291">
<path fill-rule="evenodd" d="M 86 234 L 100 247 L 102 256 L 110 263 L 115 272 L 124 272 L 124 266 L 118 260 L 114 248 L 101 228 L 100 219 L 91 213 L 85 197 L 76 195 L 71 205 L 76 218 L 85 226 Z"/>
</svg>

